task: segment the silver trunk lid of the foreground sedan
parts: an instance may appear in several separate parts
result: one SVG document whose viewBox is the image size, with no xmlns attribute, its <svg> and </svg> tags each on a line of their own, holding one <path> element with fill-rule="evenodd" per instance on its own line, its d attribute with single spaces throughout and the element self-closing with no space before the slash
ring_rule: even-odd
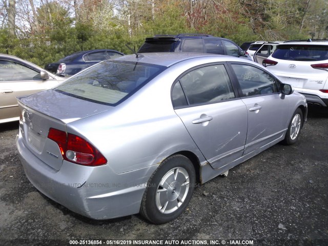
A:
<svg viewBox="0 0 328 246">
<path fill-rule="evenodd" d="M 75 120 L 109 110 L 110 106 L 46 90 L 17 98 L 20 109 L 20 133 L 26 147 L 54 170 L 60 170 L 63 156 L 56 142 L 48 138 L 50 128 L 66 132 Z"/>
</svg>

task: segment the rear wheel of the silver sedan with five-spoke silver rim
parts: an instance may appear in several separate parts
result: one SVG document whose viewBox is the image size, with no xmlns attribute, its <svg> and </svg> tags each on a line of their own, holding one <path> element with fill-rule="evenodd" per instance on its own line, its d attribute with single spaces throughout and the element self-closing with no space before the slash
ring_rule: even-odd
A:
<svg viewBox="0 0 328 246">
<path fill-rule="evenodd" d="M 195 187 L 193 163 L 183 155 L 162 161 L 150 177 L 140 214 L 154 224 L 177 218 L 188 206 Z"/>
</svg>

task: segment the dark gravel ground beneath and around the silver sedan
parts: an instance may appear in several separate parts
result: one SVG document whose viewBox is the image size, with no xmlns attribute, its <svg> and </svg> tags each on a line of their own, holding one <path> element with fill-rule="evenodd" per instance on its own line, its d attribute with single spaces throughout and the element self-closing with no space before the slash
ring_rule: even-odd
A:
<svg viewBox="0 0 328 246">
<path fill-rule="evenodd" d="M 18 122 L 0 125 L 1 245 L 69 245 L 80 239 L 328 245 L 328 109 L 310 106 L 295 145 L 275 145 L 231 169 L 227 177 L 199 186 L 188 209 L 161 226 L 139 215 L 88 219 L 40 194 L 20 165 L 17 131 Z M 63 241 L 45 241 L 49 239 Z"/>
</svg>

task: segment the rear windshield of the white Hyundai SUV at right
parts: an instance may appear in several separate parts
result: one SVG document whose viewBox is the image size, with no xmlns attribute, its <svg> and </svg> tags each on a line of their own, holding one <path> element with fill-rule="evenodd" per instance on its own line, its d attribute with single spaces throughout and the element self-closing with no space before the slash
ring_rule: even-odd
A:
<svg viewBox="0 0 328 246">
<path fill-rule="evenodd" d="M 327 60 L 328 45 L 278 45 L 272 57 L 300 61 Z"/>
</svg>

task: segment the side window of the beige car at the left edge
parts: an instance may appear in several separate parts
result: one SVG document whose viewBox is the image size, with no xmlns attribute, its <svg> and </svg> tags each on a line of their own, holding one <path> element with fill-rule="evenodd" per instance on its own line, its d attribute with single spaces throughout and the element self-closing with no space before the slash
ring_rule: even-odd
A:
<svg viewBox="0 0 328 246">
<path fill-rule="evenodd" d="M 0 81 L 41 79 L 40 73 L 11 60 L 0 60 Z"/>
</svg>

